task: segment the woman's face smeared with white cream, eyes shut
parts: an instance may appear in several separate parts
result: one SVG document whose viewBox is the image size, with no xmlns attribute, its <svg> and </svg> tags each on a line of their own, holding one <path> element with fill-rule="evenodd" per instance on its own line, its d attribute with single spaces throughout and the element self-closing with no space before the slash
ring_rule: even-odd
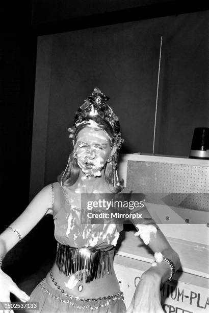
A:
<svg viewBox="0 0 209 313">
<path fill-rule="evenodd" d="M 85 127 L 77 135 L 74 150 L 86 176 L 101 176 L 100 170 L 111 154 L 109 136 L 102 129 Z"/>
</svg>

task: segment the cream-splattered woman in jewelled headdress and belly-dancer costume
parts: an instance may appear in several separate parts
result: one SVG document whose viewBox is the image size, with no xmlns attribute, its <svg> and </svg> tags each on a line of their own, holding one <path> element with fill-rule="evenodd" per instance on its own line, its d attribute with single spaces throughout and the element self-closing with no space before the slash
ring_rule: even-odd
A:
<svg viewBox="0 0 209 313">
<path fill-rule="evenodd" d="M 59 182 L 43 188 L 0 236 L 3 260 L 18 239 L 27 235 L 45 214 L 54 216 L 56 260 L 30 296 L 30 302 L 39 302 L 40 312 L 126 311 L 113 269 L 114 247 L 122 225 L 110 219 L 103 224 L 82 224 L 80 216 L 81 194 L 122 190 L 117 162 L 123 140 L 108 100 L 98 88 L 85 100 L 69 129 L 74 148 Z M 160 285 L 173 278 L 179 258 L 148 211 L 141 213 L 141 220 L 133 220 L 138 230 L 135 235 L 155 253 L 155 262 L 142 275 L 127 312 L 162 313 Z M 0 301 L 9 302 L 10 292 L 23 302 L 29 300 L 0 270 Z"/>
</svg>

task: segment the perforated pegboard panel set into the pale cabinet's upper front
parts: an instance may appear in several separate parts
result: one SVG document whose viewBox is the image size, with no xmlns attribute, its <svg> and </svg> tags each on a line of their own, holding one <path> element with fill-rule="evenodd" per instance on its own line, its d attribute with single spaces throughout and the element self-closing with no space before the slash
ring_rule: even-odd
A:
<svg viewBox="0 0 209 313">
<path fill-rule="evenodd" d="M 143 193 L 209 193 L 209 167 L 128 161 L 127 187 Z"/>
</svg>

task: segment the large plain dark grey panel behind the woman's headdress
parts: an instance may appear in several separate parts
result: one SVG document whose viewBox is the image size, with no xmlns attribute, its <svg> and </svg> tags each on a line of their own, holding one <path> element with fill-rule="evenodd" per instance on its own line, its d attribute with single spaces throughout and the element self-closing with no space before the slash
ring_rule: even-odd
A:
<svg viewBox="0 0 209 313">
<path fill-rule="evenodd" d="M 194 12 L 40 36 L 31 196 L 65 168 L 67 128 L 95 86 L 111 97 L 121 151 L 152 152 L 161 34 L 154 152 L 188 157 L 194 128 L 209 124 L 207 24 L 208 12 Z"/>
</svg>

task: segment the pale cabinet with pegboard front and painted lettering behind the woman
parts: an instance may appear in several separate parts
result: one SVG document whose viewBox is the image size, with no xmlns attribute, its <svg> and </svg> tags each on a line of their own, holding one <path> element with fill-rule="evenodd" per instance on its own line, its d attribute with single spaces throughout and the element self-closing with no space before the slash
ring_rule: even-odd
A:
<svg viewBox="0 0 209 313">
<path fill-rule="evenodd" d="M 125 186 L 135 193 L 144 193 L 148 198 L 150 194 L 176 195 L 169 205 L 146 202 L 181 260 L 174 280 L 162 286 L 165 312 L 209 311 L 209 161 L 125 154 L 119 173 Z M 152 253 L 134 236 L 134 231 L 125 232 L 116 251 L 114 268 L 126 307 L 152 261 Z"/>
</svg>

